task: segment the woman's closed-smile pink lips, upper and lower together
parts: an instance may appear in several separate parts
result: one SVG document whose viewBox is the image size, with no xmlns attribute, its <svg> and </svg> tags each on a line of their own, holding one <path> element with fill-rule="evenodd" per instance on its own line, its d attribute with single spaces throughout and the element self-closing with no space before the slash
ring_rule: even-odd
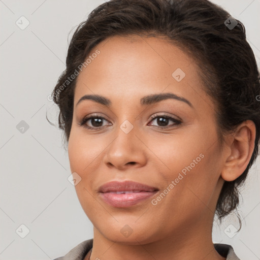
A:
<svg viewBox="0 0 260 260">
<path fill-rule="evenodd" d="M 117 208 L 134 206 L 152 197 L 157 191 L 156 187 L 134 181 L 111 181 L 99 188 L 102 200 Z"/>
</svg>

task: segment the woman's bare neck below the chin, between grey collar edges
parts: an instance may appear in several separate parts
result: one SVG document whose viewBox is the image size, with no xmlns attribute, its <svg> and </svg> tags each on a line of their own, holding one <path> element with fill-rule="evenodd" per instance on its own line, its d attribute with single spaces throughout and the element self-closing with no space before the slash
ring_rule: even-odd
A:
<svg viewBox="0 0 260 260">
<path fill-rule="evenodd" d="M 211 221 L 211 218 L 207 218 L 207 221 L 206 218 L 201 219 L 199 223 L 182 225 L 168 237 L 157 240 L 155 237 L 150 243 L 142 243 L 140 239 L 133 237 L 127 244 L 118 240 L 112 241 L 94 228 L 90 260 L 224 260 L 225 257 L 218 254 L 212 242 L 213 219 Z"/>
</svg>

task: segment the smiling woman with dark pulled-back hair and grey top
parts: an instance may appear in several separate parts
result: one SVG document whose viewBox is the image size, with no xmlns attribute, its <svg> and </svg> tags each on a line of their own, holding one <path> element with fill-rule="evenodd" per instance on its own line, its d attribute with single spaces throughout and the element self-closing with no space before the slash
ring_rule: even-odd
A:
<svg viewBox="0 0 260 260">
<path fill-rule="evenodd" d="M 93 10 L 52 96 L 94 237 L 56 259 L 239 259 L 211 233 L 257 156 L 259 90 L 243 24 L 209 1 Z"/>
</svg>

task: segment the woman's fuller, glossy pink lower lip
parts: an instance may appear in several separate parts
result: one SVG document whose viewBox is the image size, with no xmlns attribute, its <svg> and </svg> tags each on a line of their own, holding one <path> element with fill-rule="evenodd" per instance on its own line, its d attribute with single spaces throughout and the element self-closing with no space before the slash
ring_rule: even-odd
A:
<svg viewBox="0 0 260 260">
<path fill-rule="evenodd" d="M 134 206 L 148 198 L 152 197 L 157 191 L 142 191 L 142 192 L 133 192 L 133 193 L 100 193 L 101 198 L 108 205 L 117 207 L 117 208 L 126 208 Z"/>
</svg>

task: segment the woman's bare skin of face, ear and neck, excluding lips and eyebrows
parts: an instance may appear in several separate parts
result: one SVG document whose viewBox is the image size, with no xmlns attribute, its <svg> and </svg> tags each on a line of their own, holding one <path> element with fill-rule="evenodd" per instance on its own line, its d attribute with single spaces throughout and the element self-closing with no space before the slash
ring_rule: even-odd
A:
<svg viewBox="0 0 260 260">
<path fill-rule="evenodd" d="M 196 62 L 164 39 L 116 36 L 91 53 L 96 49 L 101 53 L 77 78 L 68 143 L 71 171 L 81 177 L 77 196 L 94 226 L 90 259 L 225 259 L 212 242 L 214 211 L 224 180 L 235 180 L 249 163 L 254 124 L 243 122 L 223 137 L 221 147 L 215 105 L 203 90 Z M 172 77 L 177 68 L 186 74 L 180 82 Z M 140 105 L 143 96 L 166 92 L 192 107 L 174 99 Z M 103 95 L 111 106 L 92 100 L 76 106 L 86 94 Z M 86 124 L 95 129 L 79 125 L 83 117 L 95 114 L 105 118 L 100 127 L 91 120 Z M 182 123 L 169 119 L 164 128 L 151 118 L 164 114 Z M 120 128 L 125 120 L 134 126 L 128 134 Z M 204 158 L 157 205 L 151 200 L 158 194 L 129 208 L 115 208 L 98 193 L 112 180 L 141 182 L 161 193 L 200 154 Z M 126 224 L 133 231 L 128 237 L 120 232 Z"/>
</svg>

